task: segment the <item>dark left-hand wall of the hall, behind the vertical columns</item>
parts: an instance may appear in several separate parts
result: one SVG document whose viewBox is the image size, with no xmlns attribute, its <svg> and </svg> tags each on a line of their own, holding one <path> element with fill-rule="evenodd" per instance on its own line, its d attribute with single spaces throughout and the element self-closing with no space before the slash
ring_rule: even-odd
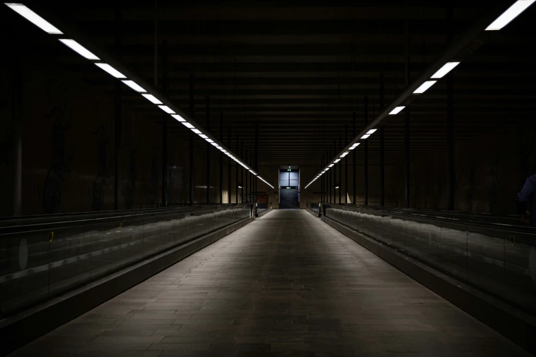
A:
<svg viewBox="0 0 536 357">
<path fill-rule="evenodd" d="M 12 63 L 0 70 L 0 216 L 12 215 L 14 81 L 23 103 L 23 215 L 114 209 L 114 97 L 36 59 L 21 64 L 20 78 Z M 123 105 L 120 209 L 161 204 L 162 129 L 151 119 Z M 194 202 L 206 202 L 205 160 L 196 149 L 194 162 L 203 164 L 194 171 Z M 211 201 L 219 202 L 216 150 L 211 166 Z M 189 176 L 188 142 L 168 133 L 168 202 L 188 202 Z"/>
</svg>

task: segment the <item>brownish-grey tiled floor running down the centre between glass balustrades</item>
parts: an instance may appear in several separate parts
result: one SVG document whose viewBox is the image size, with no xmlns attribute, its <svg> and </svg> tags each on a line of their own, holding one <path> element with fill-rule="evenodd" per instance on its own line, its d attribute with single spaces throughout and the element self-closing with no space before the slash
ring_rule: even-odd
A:
<svg viewBox="0 0 536 357">
<path fill-rule="evenodd" d="M 16 356 L 531 356 L 305 211 L 273 211 Z"/>
</svg>

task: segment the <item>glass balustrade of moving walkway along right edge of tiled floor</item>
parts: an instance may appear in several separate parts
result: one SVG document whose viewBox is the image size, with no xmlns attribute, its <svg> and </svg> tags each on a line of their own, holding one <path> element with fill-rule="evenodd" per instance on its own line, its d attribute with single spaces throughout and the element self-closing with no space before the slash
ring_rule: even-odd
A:
<svg viewBox="0 0 536 357">
<path fill-rule="evenodd" d="M 536 229 L 322 204 L 323 214 L 536 315 Z M 471 217 L 469 217 L 471 218 Z"/>
</svg>

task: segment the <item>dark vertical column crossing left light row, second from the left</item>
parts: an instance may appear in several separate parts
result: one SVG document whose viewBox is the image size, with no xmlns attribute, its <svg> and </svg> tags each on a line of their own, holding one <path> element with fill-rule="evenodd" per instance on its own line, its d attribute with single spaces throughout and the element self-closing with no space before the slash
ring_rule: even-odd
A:
<svg viewBox="0 0 536 357">
<path fill-rule="evenodd" d="M 155 15 L 156 16 L 156 15 Z M 121 4 L 120 0 L 116 0 L 115 8 L 115 20 L 116 20 L 116 54 L 120 58 L 120 48 L 121 48 Z M 155 25 L 156 26 L 156 25 Z M 114 209 L 120 208 L 120 199 L 121 199 L 121 83 L 116 81 L 115 88 L 115 120 L 114 120 Z"/>
</svg>

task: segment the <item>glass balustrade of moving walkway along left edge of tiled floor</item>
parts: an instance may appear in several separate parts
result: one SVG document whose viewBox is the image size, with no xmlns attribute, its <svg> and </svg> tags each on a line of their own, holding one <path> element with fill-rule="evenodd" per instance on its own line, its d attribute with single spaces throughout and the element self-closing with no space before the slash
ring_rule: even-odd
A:
<svg viewBox="0 0 536 357">
<path fill-rule="evenodd" d="M 0 227 L 1 313 L 12 315 L 251 215 L 251 204 L 233 204 L 51 223 L 22 219 Z"/>
</svg>

